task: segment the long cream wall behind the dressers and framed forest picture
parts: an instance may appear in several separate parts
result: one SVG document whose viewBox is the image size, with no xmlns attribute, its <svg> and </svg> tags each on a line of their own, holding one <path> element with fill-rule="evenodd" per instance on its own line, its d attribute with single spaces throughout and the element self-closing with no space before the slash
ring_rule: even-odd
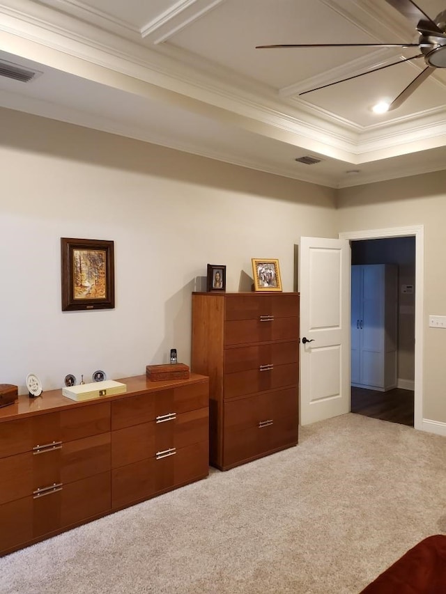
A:
<svg viewBox="0 0 446 594">
<path fill-rule="evenodd" d="M 300 235 L 337 236 L 334 191 L 0 109 L 0 383 L 44 390 L 190 363 L 194 279 L 279 258 L 293 290 Z M 113 240 L 116 308 L 61 311 L 61 237 Z"/>
</svg>

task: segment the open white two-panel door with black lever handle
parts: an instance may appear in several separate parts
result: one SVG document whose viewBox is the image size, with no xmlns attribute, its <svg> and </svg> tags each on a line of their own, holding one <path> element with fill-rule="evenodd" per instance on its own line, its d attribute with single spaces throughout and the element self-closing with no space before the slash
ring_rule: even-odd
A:
<svg viewBox="0 0 446 594">
<path fill-rule="evenodd" d="M 300 238 L 300 424 L 351 409 L 347 240 Z"/>
</svg>

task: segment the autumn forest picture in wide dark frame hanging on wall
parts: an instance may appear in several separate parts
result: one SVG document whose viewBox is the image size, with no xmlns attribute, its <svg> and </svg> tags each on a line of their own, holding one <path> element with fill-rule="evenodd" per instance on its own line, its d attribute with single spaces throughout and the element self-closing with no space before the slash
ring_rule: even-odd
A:
<svg viewBox="0 0 446 594">
<path fill-rule="evenodd" d="M 61 237 L 62 311 L 114 308 L 114 243 Z"/>
</svg>

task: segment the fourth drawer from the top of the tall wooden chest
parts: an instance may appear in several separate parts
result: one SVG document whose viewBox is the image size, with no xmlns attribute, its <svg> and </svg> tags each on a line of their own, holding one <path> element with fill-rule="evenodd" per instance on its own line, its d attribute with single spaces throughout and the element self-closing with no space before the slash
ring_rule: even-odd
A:
<svg viewBox="0 0 446 594">
<path fill-rule="evenodd" d="M 254 394 L 266 390 L 294 386 L 299 380 L 299 364 L 265 366 L 263 369 L 252 369 L 228 373 L 223 377 L 224 398 L 236 398 L 245 394 Z"/>
</svg>

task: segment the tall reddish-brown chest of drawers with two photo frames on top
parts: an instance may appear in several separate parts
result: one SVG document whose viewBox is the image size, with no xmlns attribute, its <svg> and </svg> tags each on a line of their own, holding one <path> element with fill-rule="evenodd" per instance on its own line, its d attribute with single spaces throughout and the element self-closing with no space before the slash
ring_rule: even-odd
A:
<svg viewBox="0 0 446 594">
<path fill-rule="evenodd" d="M 192 370 L 209 376 L 210 463 L 298 443 L 298 293 L 192 294 Z"/>
</svg>

